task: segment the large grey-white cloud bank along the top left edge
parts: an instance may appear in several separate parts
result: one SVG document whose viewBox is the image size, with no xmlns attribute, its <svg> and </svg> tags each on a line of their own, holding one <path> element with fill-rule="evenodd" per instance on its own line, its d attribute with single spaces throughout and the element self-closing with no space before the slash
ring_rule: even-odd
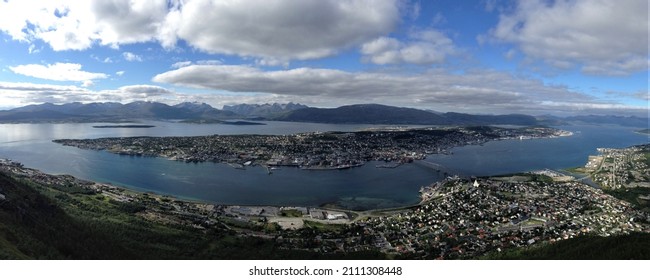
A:
<svg viewBox="0 0 650 280">
<path fill-rule="evenodd" d="M 315 59 L 391 32 L 400 0 L 0 1 L 0 31 L 55 51 L 178 40 L 208 53 Z"/>
</svg>

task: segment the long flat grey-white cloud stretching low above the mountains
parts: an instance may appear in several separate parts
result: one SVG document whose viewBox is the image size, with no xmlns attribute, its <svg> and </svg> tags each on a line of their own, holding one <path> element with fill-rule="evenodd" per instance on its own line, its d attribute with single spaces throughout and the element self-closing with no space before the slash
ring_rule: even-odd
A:
<svg viewBox="0 0 650 280">
<path fill-rule="evenodd" d="M 154 77 L 154 82 L 245 94 L 266 94 L 320 106 L 382 103 L 473 113 L 570 113 L 580 104 L 604 110 L 611 104 L 563 86 L 514 77 L 497 71 L 467 71 L 462 75 L 430 70 L 415 75 L 352 73 L 297 68 L 263 71 L 240 65 L 192 65 Z M 548 100 L 576 104 L 554 106 Z M 564 104 L 562 103 L 562 104 Z M 558 103 L 559 104 L 559 103 Z M 600 107 L 598 107 L 600 106 Z M 634 106 L 614 104 L 612 109 Z"/>
</svg>

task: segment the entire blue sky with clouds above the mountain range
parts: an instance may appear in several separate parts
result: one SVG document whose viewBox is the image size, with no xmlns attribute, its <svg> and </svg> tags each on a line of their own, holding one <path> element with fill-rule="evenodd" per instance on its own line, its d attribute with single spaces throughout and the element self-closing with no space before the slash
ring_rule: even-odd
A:
<svg viewBox="0 0 650 280">
<path fill-rule="evenodd" d="M 648 116 L 647 0 L 0 0 L 0 109 Z"/>
</svg>

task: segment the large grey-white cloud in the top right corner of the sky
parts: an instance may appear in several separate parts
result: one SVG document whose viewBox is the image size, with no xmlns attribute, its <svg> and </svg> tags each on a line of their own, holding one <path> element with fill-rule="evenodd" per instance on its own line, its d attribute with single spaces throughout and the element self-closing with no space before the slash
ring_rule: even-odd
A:
<svg viewBox="0 0 650 280">
<path fill-rule="evenodd" d="M 519 1 L 490 31 L 557 68 L 627 75 L 648 69 L 647 0 Z"/>
</svg>

